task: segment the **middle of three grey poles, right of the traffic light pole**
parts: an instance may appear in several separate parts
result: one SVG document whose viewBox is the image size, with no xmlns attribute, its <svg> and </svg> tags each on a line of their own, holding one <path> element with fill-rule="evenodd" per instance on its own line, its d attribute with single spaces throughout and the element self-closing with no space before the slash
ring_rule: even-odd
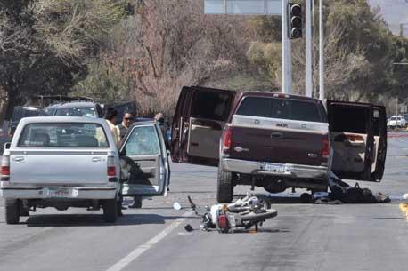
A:
<svg viewBox="0 0 408 271">
<path fill-rule="evenodd" d="M 306 0 L 306 75 L 305 75 L 305 94 L 312 97 L 313 79 L 312 79 L 312 0 Z"/>
</svg>

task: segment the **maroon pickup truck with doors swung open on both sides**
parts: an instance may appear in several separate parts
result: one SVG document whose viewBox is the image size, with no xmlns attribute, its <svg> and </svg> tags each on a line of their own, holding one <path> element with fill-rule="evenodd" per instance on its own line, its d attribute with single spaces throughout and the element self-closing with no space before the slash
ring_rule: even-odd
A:
<svg viewBox="0 0 408 271">
<path fill-rule="evenodd" d="M 327 109 L 326 109 L 327 108 Z M 233 187 L 279 193 L 327 190 L 327 173 L 379 181 L 387 151 L 384 107 L 273 92 L 184 87 L 172 124 L 172 159 L 218 166 L 217 200 Z"/>
</svg>

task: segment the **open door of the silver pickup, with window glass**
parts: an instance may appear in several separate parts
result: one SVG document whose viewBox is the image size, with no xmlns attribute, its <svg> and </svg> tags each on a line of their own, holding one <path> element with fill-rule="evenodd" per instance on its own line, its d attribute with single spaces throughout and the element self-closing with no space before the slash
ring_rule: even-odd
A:
<svg viewBox="0 0 408 271">
<path fill-rule="evenodd" d="M 154 122 L 132 124 L 120 147 L 121 195 L 167 195 L 167 150 Z"/>
</svg>

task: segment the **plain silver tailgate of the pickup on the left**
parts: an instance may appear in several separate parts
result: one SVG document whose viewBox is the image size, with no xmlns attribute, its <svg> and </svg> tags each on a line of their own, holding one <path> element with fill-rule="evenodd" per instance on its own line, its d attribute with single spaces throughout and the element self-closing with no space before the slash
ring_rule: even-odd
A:
<svg viewBox="0 0 408 271">
<path fill-rule="evenodd" d="M 23 150 L 10 156 L 10 181 L 19 184 L 107 183 L 109 151 Z"/>
</svg>

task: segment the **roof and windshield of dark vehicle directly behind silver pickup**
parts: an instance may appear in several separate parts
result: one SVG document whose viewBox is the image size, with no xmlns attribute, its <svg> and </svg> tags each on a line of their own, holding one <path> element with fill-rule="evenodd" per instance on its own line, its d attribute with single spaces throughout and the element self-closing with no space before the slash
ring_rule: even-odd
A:
<svg viewBox="0 0 408 271">
<path fill-rule="evenodd" d="M 69 101 L 56 103 L 44 108 L 44 111 L 48 116 L 103 116 L 101 105 L 92 101 Z"/>
</svg>

